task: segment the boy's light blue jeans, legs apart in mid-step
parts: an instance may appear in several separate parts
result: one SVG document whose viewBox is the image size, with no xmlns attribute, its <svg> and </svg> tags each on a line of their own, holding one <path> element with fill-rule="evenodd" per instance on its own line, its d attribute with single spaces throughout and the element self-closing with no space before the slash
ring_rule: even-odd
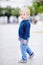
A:
<svg viewBox="0 0 43 65">
<path fill-rule="evenodd" d="M 27 60 L 27 54 L 26 52 L 31 55 L 33 52 L 31 51 L 31 49 L 28 46 L 28 40 L 26 42 L 26 44 L 23 44 L 23 40 L 24 39 L 20 39 L 20 49 L 21 49 L 21 53 L 22 53 L 22 59 L 23 60 Z"/>
</svg>

